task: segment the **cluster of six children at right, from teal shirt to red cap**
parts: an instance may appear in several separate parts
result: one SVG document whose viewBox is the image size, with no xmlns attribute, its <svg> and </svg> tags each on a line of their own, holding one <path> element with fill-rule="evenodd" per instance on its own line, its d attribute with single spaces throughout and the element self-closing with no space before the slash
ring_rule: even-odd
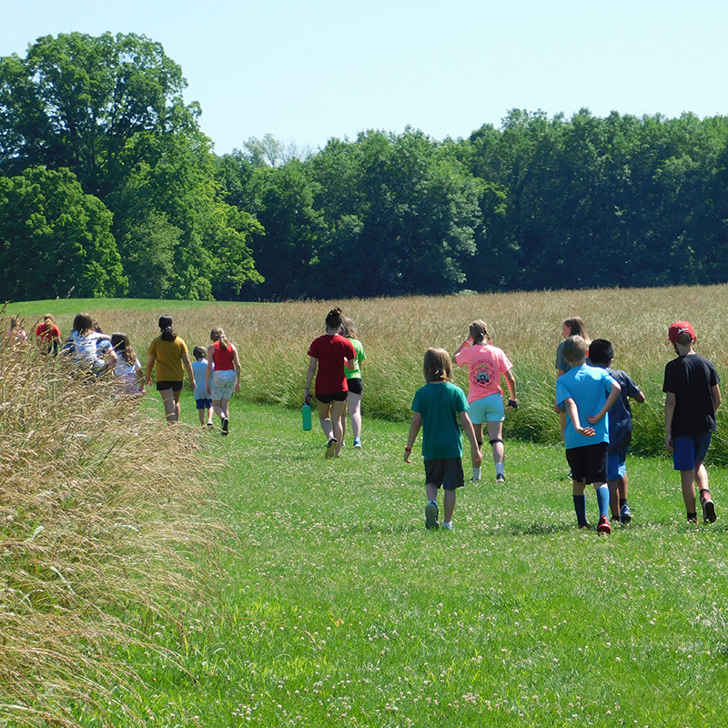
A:
<svg viewBox="0 0 728 728">
<path fill-rule="evenodd" d="M 629 399 L 645 400 L 642 390 L 621 369 L 612 369 L 614 348 L 606 339 L 590 341 L 583 321 L 566 319 L 564 341 L 557 350 L 555 409 L 561 414 L 566 458 L 571 468 L 573 505 L 580 529 L 589 528 L 586 486 L 596 491 L 599 506 L 597 532 L 612 532 L 612 520 L 628 523 L 632 511 L 627 500 L 626 456 L 632 440 Z M 487 339 L 487 343 L 485 342 Z M 682 497 L 689 522 L 698 521 L 695 486 L 699 491 L 703 521 L 716 519 L 708 488 L 704 460 L 717 423 L 721 404 L 720 378 L 713 363 L 693 348 L 693 326 L 678 321 L 668 329 L 676 359 L 665 367 L 665 445 L 672 452 L 674 470 L 681 474 Z M 412 402 L 414 415 L 405 446 L 404 460 L 422 429 L 425 465 L 425 527 L 440 527 L 437 495 L 444 490 L 442 527 L 452 530 L 457 489 L 465 484 L 462 470 L 460 428 L 470 441 L 471 480 L 480 480 L 482 428 L 487 422 L 496 466 L 496 481 L 505 482 L 502 422 L 505 419 L 501 375 L 509 388 L 509 407 L 516 409 L 516 383 L 511 361 L 493 347 L 484 322 L 473 321 L 470 335 L 453 355 L 459 366 L 468 365 L 470 390 L 466 399 L 451 382 L 450 356 L 444 349 L 425 353 L 425 386 Z"/>
</svg>

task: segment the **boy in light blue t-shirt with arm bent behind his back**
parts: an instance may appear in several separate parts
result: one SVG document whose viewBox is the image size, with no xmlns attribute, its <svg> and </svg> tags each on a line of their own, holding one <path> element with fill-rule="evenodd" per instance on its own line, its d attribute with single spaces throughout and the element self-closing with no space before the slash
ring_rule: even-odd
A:
<svg viewBox="0 0 728 728">
<path fill-rule="evenodd" d="M 556 404 L 566 410 L 563 439 L 566 459 L 571 466 L 576 521 L 580 529 L 589 526 L 585 490 L 591 484 L 599 503 L 597 532 L 606 535 L 612 532 L 607 515 L 607 412 L 620 396 L 621 388 L 606 369 L 587 366 L 588 353 L 587 343 L 581 336 L 570 336 L 564 341 L 562 354 L 571 364 L 571 369 L 556 380 Z"/>
</svg>

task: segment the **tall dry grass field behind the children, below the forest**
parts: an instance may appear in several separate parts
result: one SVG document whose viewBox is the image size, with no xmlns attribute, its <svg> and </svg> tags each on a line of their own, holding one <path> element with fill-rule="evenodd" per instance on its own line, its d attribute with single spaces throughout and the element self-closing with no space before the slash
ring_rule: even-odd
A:
<svg viewBox="0 0 728 728">
<path fill-rule="evenodd" d="M 610 339 L 617 352 L 614 366 L 629 372 L 647 394 L 647 402 L 633 408 L 632 450 L 643 454 L 664 451 L 662 373 L 674 356 L 666 342 L 672 321 L 693 322 L 698 351 L 713 359 L 719 372 L 728 363 L 728 339 L 723 335 L 728 286 L 200 304 L 180 311 L 175 328 L 192 349 L 197 344 L 207 346 L 212 326 L 223 326 L 240 350 L 242 396 L 298 407 L 303 399 L 308 344 L 323 333 L 324 318 L 334 304 L 357 323 L 367 352 L 365 417 L 409 419 L 412 395 L 422 383 L 425 349 L 441 346 L 454 351 L 473 319 L 486 320 L 493 343 L 506 351 L 514 365 L 521 407 L 507 418 L 506 438 L 561 442 L 559 420 L 553 413 L 554 360 L 561 321 L 568 317 L 581 316 L 591 338 Z M 107 331 L 126 330 L 143 359 L 148 342 L 157 336 L 158 315 L 165 312 L 163 302 L 158 311 L 144 316 L 121 308 L 107 310 L 102 313 L 102 323 Z M 70 322 L 61 322 L 64 331 Z M 458 370 L 455 380 L 467 387 L 464 371 Z M 728 464 L 724 431 L 720 413 L 710 457 Z"/>
</svg>

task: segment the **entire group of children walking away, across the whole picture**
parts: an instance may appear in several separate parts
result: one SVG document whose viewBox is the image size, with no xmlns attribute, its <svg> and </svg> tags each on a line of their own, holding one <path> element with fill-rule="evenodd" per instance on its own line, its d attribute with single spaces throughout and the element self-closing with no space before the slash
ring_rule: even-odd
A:
<svg viewBox="0 0 728 728">
<path fill-rule="evenodd" d="M 366 359 L 357 329 L 340 308 L 326 318 L 326 333 L 308 348 L 308 372 L 304 399 L 311 399 L 316 377 L 315 398 L 321 429 L 327 438 L 325 455 L 338 457 L 344 444 L 346 412 L 349 407 L 353 447 L 361 448 L 361 369 Z M 19 339 L 17 321 L 11 334 Z M 88 314 L 78 314 L 74 328 L 61 344 L 60 330 L 51 314 L 46 314 L 35 330 L 38 346 L 46 354 L 73 357 L 81 368 L 98 375 L 114 371 L 125 394 L 138 394 L 152 384 L 157 368 L 157 390 L 162 396 L 167 420 L 179 420 L 179 395 L 185 373 L 195 392 L 200 424 L 213 428 L 213 415 L 220 420 L 223 435 L 229 431 L 228 404 L 240 389 L 238 349 L 216 327 L 210 332 L 207 348 L 193 349 L 191 362 L 187 345 L 172 329 L 172 319 L 159 319 L 160 335 L 147 351 L 146 378 L 128 337 L 124 333 L 108 336 Z M 606 339 L 590 340 L 579 317 L 562 322 L 564 340 L 556 355 L 556 397 L 554 408 L 561 416 L 566 459 L 571 468 L 573 506 L 577 525 L 589 528 L 586 513 L 586 486 L 593 486 L 599 508 L 596 530 L 612 531 L 612 521 L 628 523 L 632 511 L 628 501 L 626 456 L 632 440 L 630 399 L 645 400 L 644 393 L 621 369 L 612 369 L 614 348 Z M 24 332 L 25 333 L 25 332 Z M 676 358 L 664 371 L 665 446 L 672 452 L 674 470 L 681 475 L 682 498 L 687 519 L 698 521 L 696 486 L 703 521 L 716 520 L 715 504 L 708 487 L 704 460 L 713 431 L 715 412 L 721 404 L 720 378 L 708 359 L 694 349 L 697 340 L 688 321 L 677 321 L 668 329 Z M 452 355 L 459 367 L 468 368 L 468 395 L 452 383 L 452 361 L 447 351 L 430 348 L 425 352 L 425 385 L 412 401 L 413 417 L 405 446 L 404 460 L 422 430 L 422 457 L 425 465 L 425 525 L 440 527 L 438 491 L 444 491 L 443 528 L 452 530 L 456 493 L 465 484 L 462 470 L 462 437 L 470 441 L 471 481 L 481 479 L 484 432 L 495 464 L 496 482 L 505 482 L 505 451 L 502 439 L 505 408 L 501 377 L 509 390 L 508 408 L 519 406 L 511 360 L 493 346 L 487 325 L 482 320 L 470 324 L 468 337 Z"/>
</svg>

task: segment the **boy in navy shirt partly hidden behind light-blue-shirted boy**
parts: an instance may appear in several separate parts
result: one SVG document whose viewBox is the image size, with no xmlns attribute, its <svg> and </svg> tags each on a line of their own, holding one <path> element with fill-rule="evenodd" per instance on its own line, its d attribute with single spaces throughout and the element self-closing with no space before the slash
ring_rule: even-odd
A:
<svg viewBox="0 0 728 728">
<path fill-rule="evenodd" d="M 609 447 L 607 448 L 607 480 L 609 481 L 609 504 L 612 519 L 629 523 L 632 511 L 627 502 L 627 450 L 632 442 L 632 408 L 628 398 L 643 402 L 640 389 L 622 369 L 612 369 L 614 347 L 607 339 L 594 339 L 589 345 L 589 360 L 592 366 L 606 369 L 620 385 L 620 397 L 609 410 Z"/>
</svg>

